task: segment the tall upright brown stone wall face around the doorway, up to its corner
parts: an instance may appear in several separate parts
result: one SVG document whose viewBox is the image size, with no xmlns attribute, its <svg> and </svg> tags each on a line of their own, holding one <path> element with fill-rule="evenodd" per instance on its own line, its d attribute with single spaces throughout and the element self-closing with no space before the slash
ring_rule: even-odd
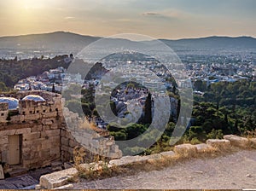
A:
<svg viewBox="0 0 256 191">
<path fill-rule="evenodd" d="M 52 161 L 61 159 L 61 96 L 33 91 L 23 96 L 20 93 L 17 98 L 29 94 L 46 97 L 48 101 L 20 100 L 19 108 L 12 110 L 15 115 L 9 119 L 4 116 L 0 123 L 0 161 L 9 164 L 9 136 L 19 135 L 19 165 L 27 170 L 50 165 Z M 5 172 L 13 170 L 10 167 Z"/>
</svg>

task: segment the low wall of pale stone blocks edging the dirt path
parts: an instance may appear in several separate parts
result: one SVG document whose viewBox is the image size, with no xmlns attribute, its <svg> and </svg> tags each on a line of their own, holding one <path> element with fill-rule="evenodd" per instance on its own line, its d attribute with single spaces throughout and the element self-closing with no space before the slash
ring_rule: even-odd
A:
<svg viewBox="0 0 256 191">
<path fill-rule="evenodd" d="M 127 165 L 146 165 L 149 164 L 160 164 L 163 159 L 181 159 L 191 158 L 201 153 L 212 153 L 212 151 L 227 151 L 233 147 L 239 148 L 256 148 L 256 138 L 247 139 L 240 136 L 224 136 L 224 140 L 210 139 L 207 143 L 201 143 L 197 145 L 182 144 L 175 146 L 173 151 L 156 153 L 148 156 L 125 156 L 120 159 L 110 160 L 108 168 L 116 168 L 119 166 Z M 102 171 L 102 161 L 98 163 L 82 164 L 79 165 L 79 170 L 83 171 Z M 106 165 L 106 164 L 104 164 Z M 76 168 L 70 168 L 65 171 L 57 171 L 49 175 L 40 177 L 40 188 L 73 188 L 69 180 L 78 180 L 79 171 Z M 67 186 L 65 186 L 67 185 Z"/>
</svg>

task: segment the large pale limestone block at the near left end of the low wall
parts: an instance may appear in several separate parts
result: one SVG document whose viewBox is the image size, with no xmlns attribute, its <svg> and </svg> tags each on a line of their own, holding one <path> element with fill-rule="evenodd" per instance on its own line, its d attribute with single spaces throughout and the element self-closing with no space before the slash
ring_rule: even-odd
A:
<svg viewBox="0 0 256 191">
<path fill-rule="evenodd" d="M 40 186 L 46 189 L 58 188 L 68 183 L 70 178 L 77 177 L 79 171 L 70 168 L 64 171 L 56 171 L 54 173 L 40 177 Z"/>
</svg>

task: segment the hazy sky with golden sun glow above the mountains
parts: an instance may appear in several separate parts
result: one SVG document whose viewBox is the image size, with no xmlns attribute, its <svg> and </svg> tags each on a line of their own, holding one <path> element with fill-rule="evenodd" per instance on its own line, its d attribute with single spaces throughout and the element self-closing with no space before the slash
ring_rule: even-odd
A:
<svg viewBox="0 0 256 191">
<path fill-rule="evenodd" d="M 256 37 L 256 0 L 0 0 L 0 36 Z"/>
</svg>

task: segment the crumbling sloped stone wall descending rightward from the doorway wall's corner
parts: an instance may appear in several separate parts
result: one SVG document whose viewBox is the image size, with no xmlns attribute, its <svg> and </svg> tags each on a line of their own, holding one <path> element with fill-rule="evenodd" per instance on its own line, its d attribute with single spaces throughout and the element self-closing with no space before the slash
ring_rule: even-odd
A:
<svg viewBox="0 0 256 191">
<path fill-rule="evenodd" d="M 70 112 L 67 108 L 64 113 L 66 113 L 66 123 L 62 124 L 61 129 L 62 160 L 73 159 L 73 148 L 77 146 L 85 148 L 89 160 L 92 160 L 96 154 L 105 154 L 112 159 L 122 156 L 119 147 L 114 143 L 113 137 L 102 137 L 105 136 L 104 131 L 96 132 L 91 129 L 83 129 L 81 128 L 83 120 L 79 118 L 77 113 Z"/>
</svg>

